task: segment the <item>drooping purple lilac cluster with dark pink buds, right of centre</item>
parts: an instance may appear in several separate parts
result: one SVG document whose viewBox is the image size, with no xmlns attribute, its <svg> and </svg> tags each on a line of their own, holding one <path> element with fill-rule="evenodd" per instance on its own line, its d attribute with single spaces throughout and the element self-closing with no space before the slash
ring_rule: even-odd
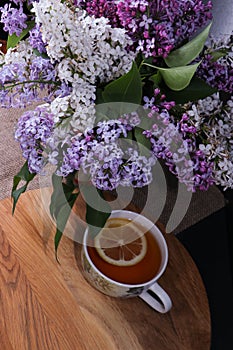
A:
<svg viewBox="0 0 233 350">
<path fill-rule="evenodd" d="M 179 117 L 174 112 L 174 101 L 167 102 L 159 89 L 154 97 L 144 97 L 145 108 L 153 121 L 144 134 L 150 139 L 152 152 L 163 159 L 168 169 L 191 191 L 207 190 L 214 183 L 212 164 L 196 144 L 197 128 L 190 116 L 181 110 Z"/>
</svg>

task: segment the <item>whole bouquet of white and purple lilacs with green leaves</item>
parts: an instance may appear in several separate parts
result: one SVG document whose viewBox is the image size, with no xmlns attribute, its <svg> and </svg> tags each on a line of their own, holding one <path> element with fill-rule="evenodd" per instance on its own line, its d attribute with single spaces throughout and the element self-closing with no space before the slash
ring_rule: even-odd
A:
<svg viewBox="0 0 233 350">
<path fill-rule="evenodd" d="M 84 197 L 97 190 L 102 198 L 147 186 L 160 160 L 191 191 L 233 188 L 233 37 L 211 38 L 211 9 L 201 0 L 11 0 L 1 8 L 1 106 L 38 104 L 15 132 L 26 162 L 14 178 L 14 208 L 51 164 L 56 249 L 81 185 Z M 99 211 L 87 203 L 94 234 L 110 215 L 105 202 Z"/>
</svg>

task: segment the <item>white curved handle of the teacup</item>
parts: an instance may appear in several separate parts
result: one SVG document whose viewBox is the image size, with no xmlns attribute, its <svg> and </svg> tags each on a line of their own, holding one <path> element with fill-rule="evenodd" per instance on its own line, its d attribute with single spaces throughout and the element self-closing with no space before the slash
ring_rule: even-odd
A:
<svg viewBox="0 0 233 350">
<path fill-rule="evenodd" d="M 165 314 L 172 307 L 169 295 L 160 285 L 155 282 L 150 288 L 142 292 L 139 297 L 149 304 L 153 309 Z"/>
</svg>

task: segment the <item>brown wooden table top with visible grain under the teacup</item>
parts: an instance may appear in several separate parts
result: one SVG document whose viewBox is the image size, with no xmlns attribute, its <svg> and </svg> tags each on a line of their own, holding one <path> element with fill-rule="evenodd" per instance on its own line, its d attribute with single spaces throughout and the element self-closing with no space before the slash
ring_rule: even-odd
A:
<svg viewBox="0 0 233 350">
<path fill-rule="evenodd" d="M 0 202 L 0 349 L 210 348 L 206 292 L 193 260 L 174 235 L 165 234 L 169 263 L 160 279 L 173 307 L 159 314 L 140 298 L 115 299 L 89 286 L 79 269 L 80 245 L 66 236 L 58 264 L 55 228 L 43 201 L 40 190 L 28 191 L 14 217 L 11 200 Z"/>
</svg>

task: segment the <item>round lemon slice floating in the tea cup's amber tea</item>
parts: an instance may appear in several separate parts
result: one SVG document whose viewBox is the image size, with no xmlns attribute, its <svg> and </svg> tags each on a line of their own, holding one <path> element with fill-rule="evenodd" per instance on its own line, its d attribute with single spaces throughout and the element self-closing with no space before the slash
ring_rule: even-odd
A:
<svg viewBox="0 0 233 350">
<path fill-rule="evenodd" d="M 95 237 L 94 246 L 101 258 L 109 264 L 132 266 L 146 255 L 147 240 L 133 222 L 112 218 Z"/>
</svg>

